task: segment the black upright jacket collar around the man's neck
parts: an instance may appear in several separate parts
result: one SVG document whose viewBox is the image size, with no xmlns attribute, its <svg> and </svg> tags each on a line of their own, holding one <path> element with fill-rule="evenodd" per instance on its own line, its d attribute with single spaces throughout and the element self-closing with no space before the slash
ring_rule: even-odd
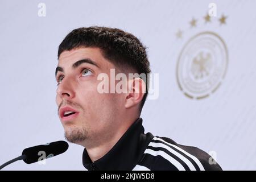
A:
<svg viewBox="0 0 256 182">
<path fill-rule="evenodd" d="M 138 118 L 114 147 L 94 163 L 85 148 L 82 164 L 88 170 L 131 170 L 139 163 L 153 137 L 151 133 L 144 134 L 142 118 Z"/>
</svg>

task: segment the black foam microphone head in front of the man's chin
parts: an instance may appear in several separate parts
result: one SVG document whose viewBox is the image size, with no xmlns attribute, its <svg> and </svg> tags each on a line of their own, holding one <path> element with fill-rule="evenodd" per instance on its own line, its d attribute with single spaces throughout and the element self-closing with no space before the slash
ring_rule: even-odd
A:
<svg viewBox="0 0 256 182">
<path fill-rule="evenodd" d="M 22 155 L 26 155 L 23 159 L 25 163 L 31 164 L 43 159 L 51 158 L 53 156 L 62 154 L 68 150 L 68 143 L 65 141 L 51 142 L 41 144 L 30 148 L 25 148 Z"/>
</svg>

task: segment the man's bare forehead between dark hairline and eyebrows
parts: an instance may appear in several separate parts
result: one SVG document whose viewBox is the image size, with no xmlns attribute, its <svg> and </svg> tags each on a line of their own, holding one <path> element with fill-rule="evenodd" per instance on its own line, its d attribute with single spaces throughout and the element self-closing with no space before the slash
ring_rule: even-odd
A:
<svg viewBox="0 0 256 182">
<path fill-rule="evenodd" d="M 73 63 L 82 59 L 93 60 L 99 67 L 113 67 L 113 64 L 102 56 L 101 49 L 94 47 L 75 48 L 71 51 L 63 51 L 60 54 L 58 66 L 63 68 L 71 67 Z"/>
</svg>

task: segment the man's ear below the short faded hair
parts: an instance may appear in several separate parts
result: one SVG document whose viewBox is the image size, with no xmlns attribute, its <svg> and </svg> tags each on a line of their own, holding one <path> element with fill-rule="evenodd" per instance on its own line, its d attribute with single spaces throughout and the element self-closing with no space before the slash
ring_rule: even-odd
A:
<svg viewBox="0 0 256 182">
<path fill-rule="evenodd" d="M 133 78 L 128 81 L 128 93 L 125 98 L 126 109 L 138 105 L 146 93 L 146 84 L 142 78 Z"/>
</svg>

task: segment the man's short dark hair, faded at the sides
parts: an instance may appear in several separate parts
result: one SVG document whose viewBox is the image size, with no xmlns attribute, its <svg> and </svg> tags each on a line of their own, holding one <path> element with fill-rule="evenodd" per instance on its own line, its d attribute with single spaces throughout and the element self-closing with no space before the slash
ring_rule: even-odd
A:
<svg viewBox="0 0 256 182">
<path fill-rule="evenodd" d="M 140 75 L 146 75 L 146 93 L 141 101 L 141 108 L 148 94 L 148 73 L 150 63 L 147 58 L 146 47 L 134 35 L 118 28 L 109 27 L 81 27 L 71 31 L 61 42 L 58 59 L 63 51 L 71 51 L 80 47 L 97 47 L 102 55 L 118 68 L 129 67 Z"/>
</svg>

